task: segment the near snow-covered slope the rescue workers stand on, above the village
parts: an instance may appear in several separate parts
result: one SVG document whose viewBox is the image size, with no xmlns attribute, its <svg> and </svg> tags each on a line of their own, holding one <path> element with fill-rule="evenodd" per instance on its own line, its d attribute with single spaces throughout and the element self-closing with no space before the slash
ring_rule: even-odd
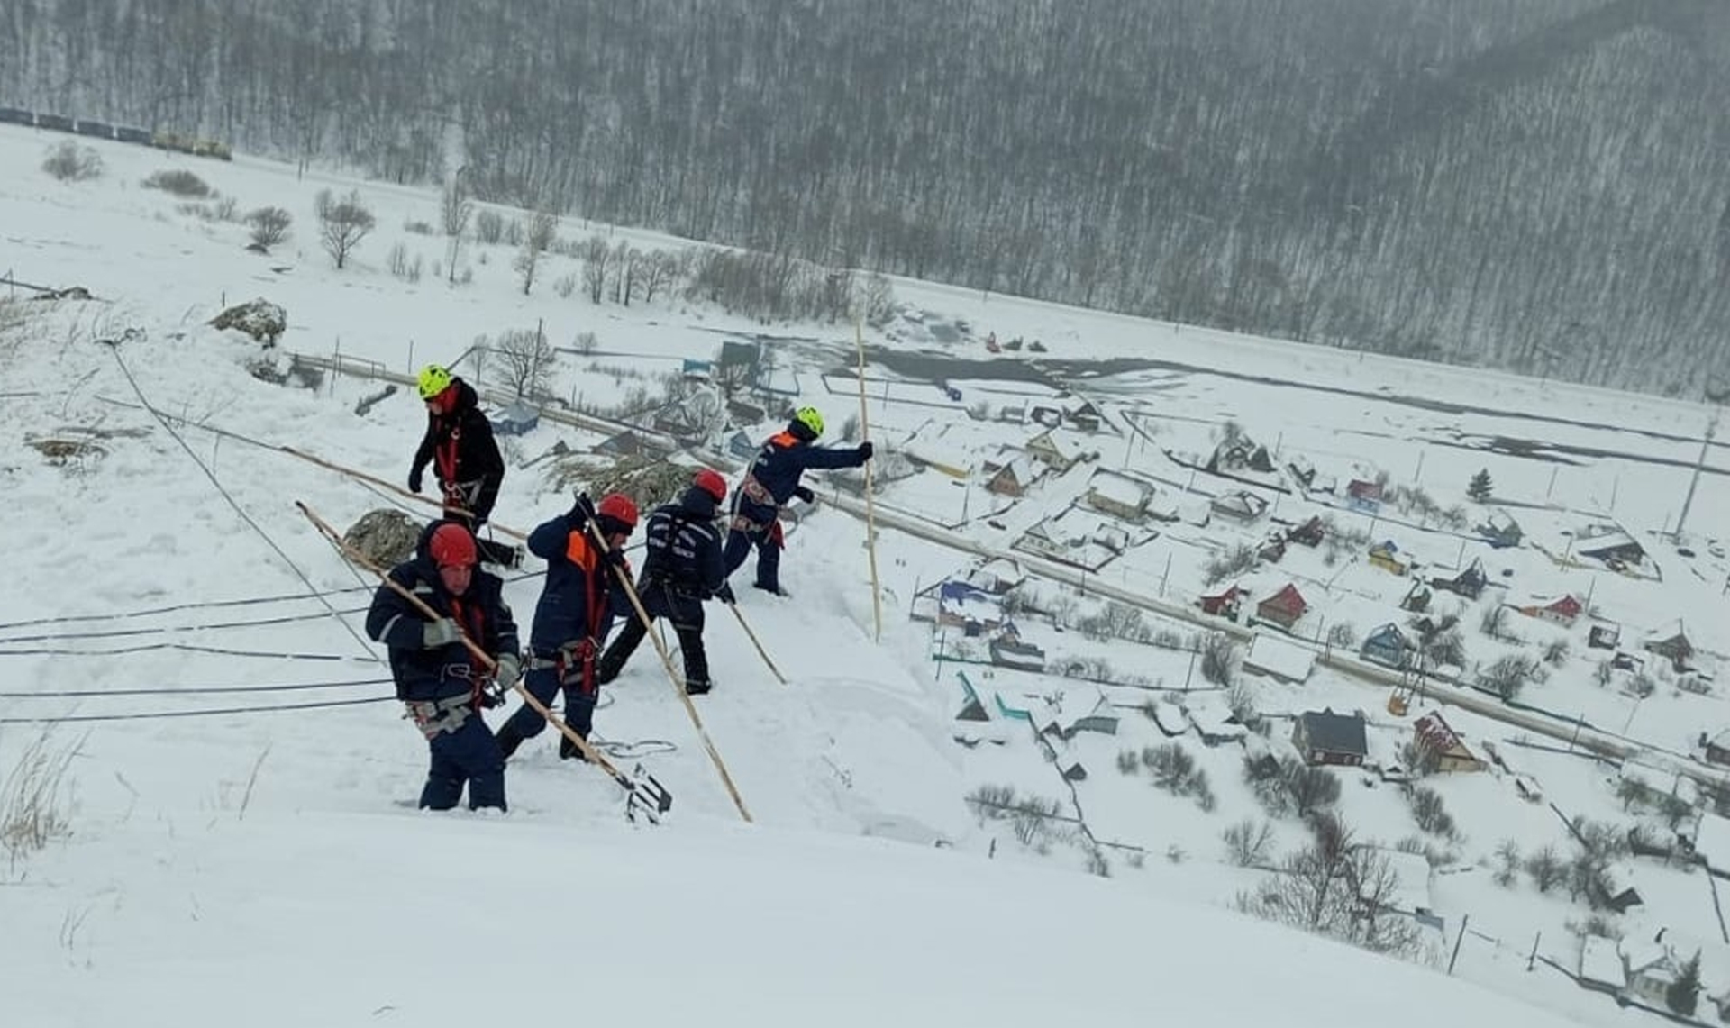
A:
<svg viewBox="0 0 1730 1028">
<path fill-rule="evenodd" d="M 986 746 L 969 763 L 950 739 L 953 673 L 932 670 L 927 630 L 905 620 L 915 587 L 958 557 L 882 535 L 879 642 L 860 524 L 822 505 L 792 535 L 784 575 L 796 599 L 740 588 L 787 685 L 711 611 L 718 689 L 697 710 L 753 826 L 649 647 L 609 689 L 597 732 L 621 744 L 623 765 L 642 760 L 673 789 L 671 824 L 625 826 L 618 789 L 559 761 L 550 737 L 510 763 L 509 815 L 408 810 L 426 748 L 358 635 L 374 583 L 294 502 L 337 526 L 381 505 L 424 511 L 284 447 L 400 481 L 419 405 L 396 395 L 356 414 L 379 386 L 349 377 L 261 382 L 246 370 L 258 348 L 204 322 L 221 301 L 263 294 L 289 308 L 284 348 L 401 372 L 460 353 L 476 332 L 545 320 L 555 341 L 595 331 L 614 355 L 561 381 L 590 400 L 628 391 L 631 358 L 704 357 L 759 325 L 682 303 L 592 306 L 545 284 L 524 298 L 509 247 L 471 249 L 465 287 L 431 268 L 420 282 L 391 277 L 391 242 L 439 258 L 441 239 L 398 228 L 436 223 L 436 196 L 372 183 L 358 185 L 381 230 L 334 272 L 313 244 L 311 196 L 351 182 L 99 145 L 107 177 L 66 185 L 38 170 L 54 142 L 0 126 L 0 270 L 97 296 L 17 292 L 28 324 L 0 355 L 0 488 L 14 512 L 0 775 L 17 775 L 33 746 L 64 758 L 67 815 L 64 838 L 0 865 L 7 1023 L 1550 1023 L 1517 999 L 1223 910 L 1239 879 L 1201 860 L 1112 879 L 1017 864 L 1036 857 L 1007 846 L 988 860 L 993 832 L 962 796 L 979 767 L 995 774 L 1028 751 Z M 291 208 L 296 241 L 242 253 L 244 228 L 140 189 L 166 166 L 197 171 L 242 211 Z M 574 272 L 547 260 L 543 282 Z M 927 303 L 952 296 L 919 289 Z M 1097 341 L 1100 355 L 1149 331 L 1016 310 L 1054 339 Z M 1317 369 L 1304 370 L 1325 379 Z M 853 400 L 822 402 L 839 422 Z M 567 505 L 522 467 L 559 431 L 510 445 L 502 526 L 528 530 Z M 92 448 L 50 459 L 33 445 L 50 440 Z M 535 571 L 507 587 L 524 620 Z M 66 720 L 45 729 L 52 718 Z M 1016 775 L 1050 777 L 1043 758 L 1024 763 L 1033 770 Z M 1105 765 L 1109 755 L 1095 761 Z M 1218 846 L 1216 826 L 1178 836 L 1176 819 L 1144 813 L 1150 803 L 1135 786 L 1121 805 L 1145 846 Z"/>
</svg>

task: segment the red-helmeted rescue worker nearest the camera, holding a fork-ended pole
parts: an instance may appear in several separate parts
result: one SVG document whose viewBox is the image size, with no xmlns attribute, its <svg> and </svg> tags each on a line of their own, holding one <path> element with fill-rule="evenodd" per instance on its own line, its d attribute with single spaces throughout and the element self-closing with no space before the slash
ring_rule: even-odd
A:
<svg viewBox="0 0 1730 1028">
<path fill-rule="evenodd" d="M 391 652 L 391 677 L 420 734 L 431 765 L 420 806 L 450 810 L 469 786 L 469 808 L 505 810 L 505 760 L 481 710 L 497 687 L 510 689 L 521 670 L 517 625 L 495 575 L 476 568 L 474 535 L 455 521 L 434 521 L 420 533 L 415 556 L 389 571 L 393 581 L 439 616 L 426 614 L 400 592 L 379 585 L 367 611 L 367 635 Z M 462 637 L 497 661 L 493 680 Z"/>
</svg>

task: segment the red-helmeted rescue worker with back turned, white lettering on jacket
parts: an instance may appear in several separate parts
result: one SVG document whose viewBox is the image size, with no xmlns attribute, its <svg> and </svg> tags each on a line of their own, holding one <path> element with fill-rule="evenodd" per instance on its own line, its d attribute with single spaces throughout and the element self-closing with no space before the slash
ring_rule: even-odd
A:
<svg viewBox="0 0 1730 1028">
<path fill-rule="evenodd" d="M 714 687 L 709 656 L 702 647 L 702 601 L 734 602 L 734 590 L 721 573 L 721 533 L 714 526 L 727 479 L 704 467 L 676 504 L 656 507 L 644 530 L 647 556 L 637 594 L 649 618 L 666 618 L 685 654 L 685 692 L 701 696 Z M 602 684 L 619 677 L 625 661 L 649 633 L 642 618 L 631 618 L 607 646 L 595 668 Z"/>
</svg>

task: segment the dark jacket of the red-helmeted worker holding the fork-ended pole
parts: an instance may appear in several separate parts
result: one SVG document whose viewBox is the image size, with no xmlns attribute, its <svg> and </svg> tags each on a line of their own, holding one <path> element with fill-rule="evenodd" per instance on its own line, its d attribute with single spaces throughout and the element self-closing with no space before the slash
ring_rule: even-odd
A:
<svg viewBox="0 0 1730 1028">
<path fill-rule="evenodd" d="M 439 616 L 457 618 L 464 633 L 488 656 L 517 652 L 517 623 L 510 616 L 510 604 L 503 597 L 503 581 L 497 575 L 476 568 L 469 578 L 467 592 L 460 597 L 446 592 L 438 566 L 427 552 L 427 540 L 439 524 L 445 523 L 434 521 L 426 526 L 419 545 L 415 545 L 415 556 L 391 568 L 391 580 L 408 588 Z M 379 590 L 372 594 L 372 607 L 367 609 L 367 635 L 386 644 L 391 651 L 396 699 L 448 699 L 474 692 L 476 680 L 484 675 L 484 670 L 474 661 L 474 654 L 462 642 L 422 649 L 426 625 L 426 614 L 394 588 L 381 583 Z"/>
</svg>

